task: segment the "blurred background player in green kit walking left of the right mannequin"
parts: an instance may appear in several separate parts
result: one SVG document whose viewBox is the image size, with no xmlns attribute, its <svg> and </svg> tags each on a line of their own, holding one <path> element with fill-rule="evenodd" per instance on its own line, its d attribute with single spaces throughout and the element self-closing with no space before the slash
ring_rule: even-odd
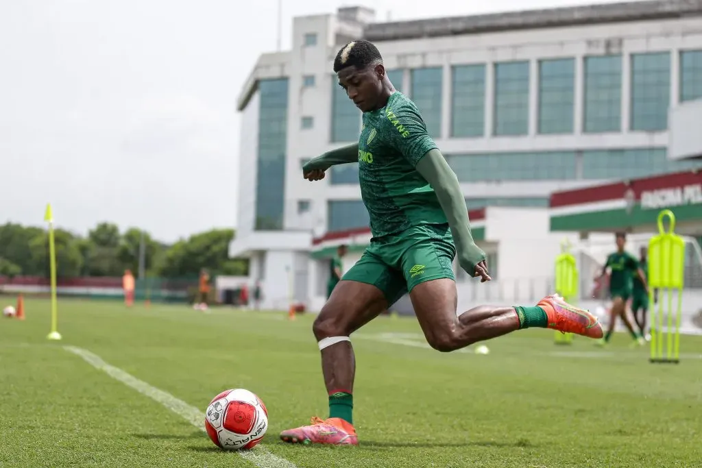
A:
<svg viewBox="0 0 702 468">
<path fill-rule="evenodd" d="M 609 326 L 604 338 L 598 342 L 599 345 L 606 345 L 614 333 L 617 317 L 621 317 L 624 325 L 631 333 L 635 342 L 638 345 L 644 344 L 644 338 L 636 330 L 626 314 L 626 302 L 633 293 L 633 277 L 638 276 L 644 288 L 644 294 L 648 295 L 649 288 L 646 283 L 646 275 L 641 269 L 639 262 L 633 255 L 624 250 L 626 246 L 626 234 L 617 232 L 615 234 L 616 252 L 609 254 L 607 261 L 602 267 L 602 276 L 607 274 L 607 269 L 610 270 L 609 275 L 609 295 L 612 299 L 612 307 L 609 310 Z"/>
</svg>

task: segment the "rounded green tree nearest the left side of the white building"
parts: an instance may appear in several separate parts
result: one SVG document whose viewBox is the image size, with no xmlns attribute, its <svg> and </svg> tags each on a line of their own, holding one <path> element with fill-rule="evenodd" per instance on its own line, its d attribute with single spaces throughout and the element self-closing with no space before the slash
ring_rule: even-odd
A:
<svg viewBox="0 0 702 468">
<path fill-rule="evenodd" d="M 232 239 L 234 229 L 211 229 L 176 242 L 166 251 L 161 276 L 197 276 L 202 268 L 211 274 L 246 274 L 246 260 L 229 258 Z"/>
</svg>

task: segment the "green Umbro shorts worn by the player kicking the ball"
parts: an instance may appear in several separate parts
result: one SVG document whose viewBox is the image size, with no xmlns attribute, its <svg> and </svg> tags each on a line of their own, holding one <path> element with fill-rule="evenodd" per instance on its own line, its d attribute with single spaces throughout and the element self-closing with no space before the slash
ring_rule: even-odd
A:
<svg viewBox="0 0 702 468">
<path fill-rule="evenodd" d="M 456 281 L 455 257 L 456 246 L 448 224 L 418 225 L 371 239 L 371 245 L 343 279 L 376 286 L 392 305 L 424 281 Z"/>
</svg>

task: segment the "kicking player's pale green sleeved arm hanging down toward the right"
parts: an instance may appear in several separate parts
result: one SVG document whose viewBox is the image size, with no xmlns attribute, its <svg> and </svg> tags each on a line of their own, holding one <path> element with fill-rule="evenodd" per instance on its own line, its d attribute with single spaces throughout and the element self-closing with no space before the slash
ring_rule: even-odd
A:
<svg viewBox="0 0 702 468">
<path fill-rule="evenodd" d="M 468 207 L 458 183 L 456 173 L 444 159 L 439 149 L 430 149 L 417 163 L 416 170 L 429 182 L 437 194 L 446 219 L 449 220 L 453 241 L 456 242 L 458 265 L 472 276 L 482 276 L 482 281 L 489 281 L 485 253 L 475 245 L 470 234 Z"/>
</svg>

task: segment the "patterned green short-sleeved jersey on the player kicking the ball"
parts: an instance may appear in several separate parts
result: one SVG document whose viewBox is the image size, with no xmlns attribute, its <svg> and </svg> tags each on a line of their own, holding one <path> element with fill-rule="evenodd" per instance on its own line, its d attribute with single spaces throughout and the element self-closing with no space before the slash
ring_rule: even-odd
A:
<svg viewBox="0 0 702 468">
<path fill-rule="evenodd" d="M 436 148 L 416 105 L 399 91 L 382 109 L 364 112 L 359 180 L 373 237 L 448 222 L 434 189 L 415 169 Z"/>
</svg>

